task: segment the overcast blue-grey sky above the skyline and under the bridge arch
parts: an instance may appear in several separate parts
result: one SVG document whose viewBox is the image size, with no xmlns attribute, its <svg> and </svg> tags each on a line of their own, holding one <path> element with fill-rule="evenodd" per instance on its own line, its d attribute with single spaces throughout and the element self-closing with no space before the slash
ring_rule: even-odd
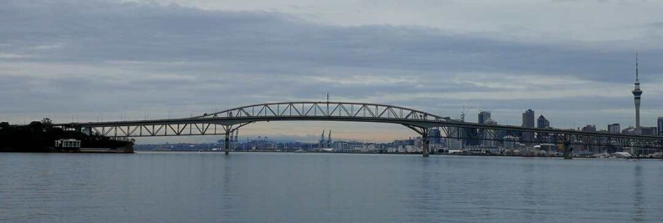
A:
<svg viewBox="0 0 663 223">
<path fill-rule="evenodd" d="M 0 121 L 187 117 L 260 102 L 378 102 L 556 128 L 663 116 L 663 1 L 0 3 Z M 389 141 L 398 125 L 262 123 L 244 137 Z M 211 141 L 214 137 L 141 139 Z"/>
</svg>

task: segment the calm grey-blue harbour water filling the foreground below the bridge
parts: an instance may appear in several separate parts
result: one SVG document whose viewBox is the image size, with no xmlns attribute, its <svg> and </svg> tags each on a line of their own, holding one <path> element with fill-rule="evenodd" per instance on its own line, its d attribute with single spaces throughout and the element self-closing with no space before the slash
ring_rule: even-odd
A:
<svg viewBox="0 0 663 223">
<path fill-rule="evenodd" d="M 0 153 L 0 222 L 661 222 L 660 160 Z"/>
</svg>

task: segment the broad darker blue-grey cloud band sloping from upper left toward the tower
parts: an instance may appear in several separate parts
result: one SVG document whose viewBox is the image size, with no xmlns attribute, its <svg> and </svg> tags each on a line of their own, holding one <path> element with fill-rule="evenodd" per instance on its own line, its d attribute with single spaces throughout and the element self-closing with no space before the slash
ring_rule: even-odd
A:
<svg viewBox="0 0 663 223">
<path fill-rule="evenodd" d="M 632 52 L 531 45 L 417 26 L 327 26 L 265 12 L 105 1 L 10 1 L 3 42 L 33 61 L 209 61 L 236 72 L 311 75 L 319 68 L 536 72 L 623 81 Z M 39 45 L 60 45 L 36 50 Z M 663 52 L 641 52 L 663 57 Z M 659 63 L 650 70 L 663 70 Z"/>
</svg>

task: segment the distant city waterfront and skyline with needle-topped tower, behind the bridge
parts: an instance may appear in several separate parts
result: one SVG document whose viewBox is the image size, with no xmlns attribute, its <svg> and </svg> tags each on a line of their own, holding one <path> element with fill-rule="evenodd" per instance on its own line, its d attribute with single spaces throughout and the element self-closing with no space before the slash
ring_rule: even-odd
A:
<svg viewBox="0 0 663 223">
<path fill-rule="evenodd" d="M 578 128 L 583 132 L 609 132 L 622 134 L 643 134 L 663 136 L 663 116 L 657 118 L 656 127 L 643 127 L 640 125 L 640 105 L 643 91 L 640 89 L 638 59 L 636 56 L 634 90 L 635 105 L 635 126 L 629 126 L 622 129 L 620 123 L 611 123 L 607 125 L 606 130 L 598 130 L 597 125 L 587 124 Z M 464 114 L 463 116 L 464 117 Z M 462 120 L 462 118 L 461 118 Z M 477 123 L 484 125 L 496 125 L 497 122 L 491 118 L 491 112 L 479 111 Z M 535 111 L 527 109 L 522 114 L 521 126 L 525 128 L 551 128 L 550 121 L 540 114 L 535 120 Z M 604 125 L 605 126 L 605 125 Z M 445 135 L 438 128 L 432 128 L 429 132 L 430 148 L 435 153 L 465 153 L 465 154 L 493 154 L 493 155 L 559 155 L 560 151 L 554 142 L 532 144 L 534 139 L 539 139 L 542 134 L 533 134 L 532 132 L 521 132 L 508 134 L 508 132 L 496 132 L 498 130 L 483 130 L 477 128 L 461 129 L 457 127 L 448 127 Z M 507 133 L 507 134 L 505 134 Z M 320 134 L 318 144 L 301 142 L 276 142 L 269 141 L 267 137 L 258 137 L 258 139 L 246 139 L 246 142 L 238 141 L 238 133 L 235 132 L 232 137 L 232 148 L 235 151 L 320 151 L 336 153 L 420 153 L 422 152 L 422 137 L 410 137 L 409 139 L 396 139 L 391 143 L 364 143 L 355 140 L 332 140 L 332 130 L 327 132 L 325 139 L 325 130 Z M 503 137 L 495 138 L 498 135 Z M 218 142 L 221 144 L 221 141 Z M 168 146 L 168 145 L 167 145 Z M 188 146 L 184 148 L 184 146 Z M 218 145 L 208 145 L 200 150 L 216 150 Z M 139 146 L 140 147 L 140 146 Z M 182 145 L 180 149 L 199 149 L 191 145 Z M 211 148 L 214 147 L 214 148 Z M 607 152 L 623 153 L 627 148 L 618 146 L 588 146 L 581 144 L 572 145 L 574 153 L 578 155 L 597 155 Z M 170 145 L 170 148 L 177 148 Z M 220 148 L 218 148 L 220 150 Z M 461 151 L 461 152 L 459 152 Z M 648 151 L 649 152 L 649 151 Z M 646 152 L 646 153 L 648 153 Z"/>
</svg>

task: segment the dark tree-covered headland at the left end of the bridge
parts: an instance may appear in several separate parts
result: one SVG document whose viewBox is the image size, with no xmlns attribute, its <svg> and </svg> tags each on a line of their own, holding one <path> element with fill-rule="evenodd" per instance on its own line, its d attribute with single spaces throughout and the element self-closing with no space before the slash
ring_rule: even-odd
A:
<svg viewBox="0 0 663 223">
<path fill-rule="evenodd" d="M 54 143 L 59 139 L 80 140 L 81 147 L 84 148 L 124 148 L 133 145 L 133 141 L 56 128 L 53 127 L 49 118 L 33 121 L 29 125 L 0 123 L 0 152 L 58 152 L 57 148 L 54 148 Z"/>
</svg>

